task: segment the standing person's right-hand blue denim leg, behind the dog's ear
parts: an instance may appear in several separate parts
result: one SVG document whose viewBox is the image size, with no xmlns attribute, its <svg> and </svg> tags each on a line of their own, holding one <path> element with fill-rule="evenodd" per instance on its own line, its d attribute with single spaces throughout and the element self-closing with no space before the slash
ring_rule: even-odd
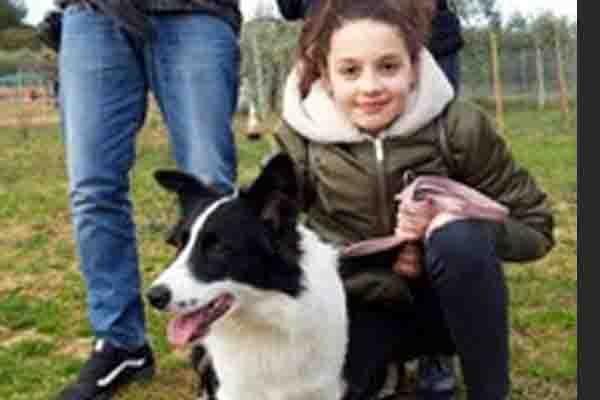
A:
<svg viewBox="0 0 600 400">
<path fill-rule="evenodd" d="M 177 165 L 230 192 L 237 179 L 232 132 L 239 83 L 237 36 L 225 21 L 201 13 L 158 15 L 152 23 L 149 75 Z"/>
</svg>

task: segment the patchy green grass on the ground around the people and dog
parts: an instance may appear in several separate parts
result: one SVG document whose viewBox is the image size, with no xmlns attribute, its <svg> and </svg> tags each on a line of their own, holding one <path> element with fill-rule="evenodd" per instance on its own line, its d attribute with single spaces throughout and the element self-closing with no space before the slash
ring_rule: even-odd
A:
<svg viewBox="0 0 600 400">
<path fill-rule="evenodd" d="M 513 400 L 576 399 L 576 135 L 561 131 L 557 109 L 513 107 L 506 124 L 516 158 L 549 193 L 558 240 L 545 259 L 506 266 Z M 240 181 L 248 182 L 270 140 L 267 135 L 248 141 L 239 121 L 236 130 Z M 144 287 L 173 256 L 163 236 L 176 214 L 174 199 L 152 178 L 155 169 L 173 167 L 167 147 L 164 126 L 151 115 L 131 174 Z M 63 145 L 57 125 L 36 125 L 28 135 L 22 127 L 0 128 L 0 148 L 0 399 L 48 399 L 76 376 L 91 334 L 72 239 Z M 158 374 L 119 399 L 193 399 L 187 354 L 167 344 L 165 317 L 147 311 Z"/>
</svg>

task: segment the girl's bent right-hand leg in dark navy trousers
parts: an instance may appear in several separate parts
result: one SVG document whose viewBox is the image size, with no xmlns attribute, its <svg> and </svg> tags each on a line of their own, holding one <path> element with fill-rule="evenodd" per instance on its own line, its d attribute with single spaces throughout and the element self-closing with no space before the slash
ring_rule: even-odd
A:
<svg viewBox="0 0 600 400">
<path fill-rule="evenodd" d="M 458 221 L 425 245 L 425 269 L 461 360 L 469 400 L 509 394 L 508 290 L 485 222 Z"/>
</svg>

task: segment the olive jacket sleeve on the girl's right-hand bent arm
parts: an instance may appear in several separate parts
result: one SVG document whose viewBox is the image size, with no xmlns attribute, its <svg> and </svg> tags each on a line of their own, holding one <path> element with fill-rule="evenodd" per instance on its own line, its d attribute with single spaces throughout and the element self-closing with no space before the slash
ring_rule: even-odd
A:
<svg viewBox="0 0 600 400">
<path fill-rule="evenodd" d="M 506 261 L 539 259 L 554 246 L 554 217 L 547 195 L 519 166 L 493 121 L 474 105 L 456 102 L 448 133 L 459 178 L 510 210 L 498 225 L 498 254 Z"/>
</svg>

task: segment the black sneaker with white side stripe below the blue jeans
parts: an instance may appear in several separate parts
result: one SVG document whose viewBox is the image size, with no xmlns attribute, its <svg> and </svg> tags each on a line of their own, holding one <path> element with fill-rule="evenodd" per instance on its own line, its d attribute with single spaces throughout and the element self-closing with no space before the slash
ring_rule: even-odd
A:
<svg viewBox="0 0 600 400">
<path fill-rule="evenodd" d="M 97 340 L 77 381 L 63 389 L 56 400 L 108 400 L 118 388 L 153 375 L 154 357 L 149 345 L 128 351 Z"/>
</svg>

